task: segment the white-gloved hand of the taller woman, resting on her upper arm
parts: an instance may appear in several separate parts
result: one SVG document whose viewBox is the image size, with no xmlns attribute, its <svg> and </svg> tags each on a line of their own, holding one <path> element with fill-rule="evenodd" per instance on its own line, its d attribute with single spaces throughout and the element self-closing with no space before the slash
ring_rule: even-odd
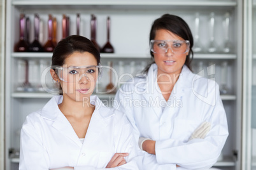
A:
<svg viewBox="0 0 256 170">
<path fill-rule="evenodd" d="M 206 134 L 210 131 L 211 129 L 211 123 L 210 122 L 203 122 L 196 130 L 194 133 L 190 136 L 189 140 L 193 139 L 203 139 L 205 138 Z"/>
</svg>

